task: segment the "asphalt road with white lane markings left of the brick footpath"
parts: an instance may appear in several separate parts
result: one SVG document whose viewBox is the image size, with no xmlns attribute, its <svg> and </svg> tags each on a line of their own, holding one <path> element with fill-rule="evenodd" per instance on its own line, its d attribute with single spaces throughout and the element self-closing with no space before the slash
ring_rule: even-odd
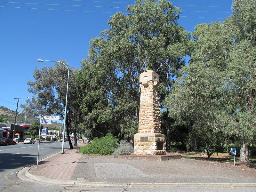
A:
<svg viewBox="0 0 256 192">
<path fill-rule="evenodd" d="M 62 142 L 40 142 L 39 160 L 61 151 Z M 65 142 L 65 148 L 68 148 Z M 0 191 L 20 184 L 16 173 L 37 160 L 38 143 L 0 146 Z"/>
</svg>

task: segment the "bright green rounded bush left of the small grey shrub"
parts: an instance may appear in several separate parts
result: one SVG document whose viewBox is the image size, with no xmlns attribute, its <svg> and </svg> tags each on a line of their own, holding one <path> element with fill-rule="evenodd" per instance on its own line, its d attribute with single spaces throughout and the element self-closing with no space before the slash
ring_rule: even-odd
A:
<svg viewBox="0 0 256 192">
<path fill-rule="evenodd" d="M 99 155 L 112 155 L 117 148 L 118 139 L 111 133 L 106 134 L 105 137 L 93 139 L 92 144 L 85 145 L 78 149 L 82 154 L 99 154 Z"/>
</svg>

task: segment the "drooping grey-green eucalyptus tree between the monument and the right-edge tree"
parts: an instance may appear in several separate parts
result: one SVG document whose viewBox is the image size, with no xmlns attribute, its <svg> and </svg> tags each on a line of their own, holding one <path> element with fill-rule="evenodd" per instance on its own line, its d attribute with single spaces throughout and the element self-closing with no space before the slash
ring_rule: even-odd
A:
<svg viewBox="0 0 256 192">
<path fill-rule="evenodd" d="M 205 148 L 208 158 L 224 142 L 222 132 L 214 132 L 214 127 L 218 126 L 216 117 L 223 94 L 219 85 L 232 44 L 227 30 L 221 22 L 196 26 L 191 61 L 180 70 L 180 77 L 165 100 L 175 123 L 186 121 L 189 126 L 187 145 Z"/>
</svg>

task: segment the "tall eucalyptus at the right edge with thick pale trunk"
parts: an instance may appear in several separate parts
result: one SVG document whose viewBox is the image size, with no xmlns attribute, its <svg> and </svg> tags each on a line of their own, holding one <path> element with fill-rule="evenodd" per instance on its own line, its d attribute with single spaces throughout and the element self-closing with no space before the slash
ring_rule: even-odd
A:
<svg viewBox="0 0 256 192">
<path fill-rule="evenodd" d="M 227 91 L 234 114 L 230 129 L 241 137 L 240 161 L 249 161 L 249 146 L 256 135 L 256 1 L 234 0 L 228 24 L 234 28 L 229 57 Z"/>
</svg>

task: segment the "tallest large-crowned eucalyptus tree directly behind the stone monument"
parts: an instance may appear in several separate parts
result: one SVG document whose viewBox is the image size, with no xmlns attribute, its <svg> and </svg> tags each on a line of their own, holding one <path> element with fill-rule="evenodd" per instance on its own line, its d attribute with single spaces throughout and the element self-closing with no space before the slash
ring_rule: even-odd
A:
<svg viewBox="0 0 256 192">
<path fill-rule="evenodd" d="M 138 0 L 108 20 L 110 28 L 90 41 L 77 84 L 84 126 L 119 133 L 132 139 L 138 130 L 139 75 L 146 66 L 160 78 L 160 97 L 167 93 L 166 79 L 177 75 L 189 53 L 190 35 L 178 26 L 180 9 L 166 0 Z M 90 123 L 89 123 L 90 122 Z"/>
</svg>

